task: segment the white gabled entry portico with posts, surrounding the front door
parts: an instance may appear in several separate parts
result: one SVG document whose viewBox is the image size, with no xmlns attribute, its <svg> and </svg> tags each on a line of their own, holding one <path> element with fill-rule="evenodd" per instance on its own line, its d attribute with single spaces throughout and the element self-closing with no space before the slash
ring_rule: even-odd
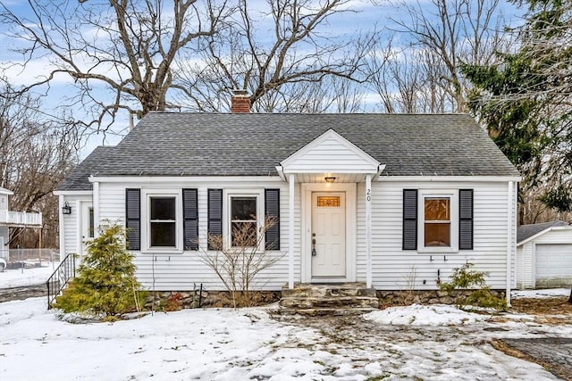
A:
<svg viewBox="0 0 572 381">
<path fill-rule="evenodd" d="M 366 286 L 372 287 L 371 209 L 372 180 L 384 165 L 333 129 L 329 129 L 276 170 L 289 183 L 288 288 L 304 283 L 355 282 L 357 280 L 357 184 L 365 183 L 364 228 Z M 299 226 L 296 225 L 296 186 L 299 184 Z M 299 242 L 295 236 L 299 234 Z M 296 247 L 298 246 L 298 247 Z M 300 256 L 295 274 L 295 253 Z M 344 283 L 345 284 L 345 283 Z M 329 291 L 324 291 L 327 294 Z M 321 292 L 315 290 L 315 293 Z"/>
</svg>

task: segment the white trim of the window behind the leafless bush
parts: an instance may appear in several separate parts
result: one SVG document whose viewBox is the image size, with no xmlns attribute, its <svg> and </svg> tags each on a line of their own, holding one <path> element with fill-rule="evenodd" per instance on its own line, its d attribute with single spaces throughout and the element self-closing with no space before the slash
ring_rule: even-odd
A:
<svg viewBox="0 0 572 381">
<path fill-rule="evenodd" d="M 232 197 L 256 197 L 257 199 L 257 231 L 265 223 L 265 190 L 264 189 L 223 189 L 223 246 L 225 249 L 231 249 L 231 198 Z M 257 253 L 264 253 L 265 237 L 260 240 L 260 246 Z"/>
</svg>

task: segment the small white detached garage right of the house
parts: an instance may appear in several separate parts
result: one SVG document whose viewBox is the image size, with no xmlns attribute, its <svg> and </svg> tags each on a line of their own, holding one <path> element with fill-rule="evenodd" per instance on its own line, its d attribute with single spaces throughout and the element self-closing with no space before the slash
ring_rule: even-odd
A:
<svg viewBox="0 0 572 381">
<path fill-rule="evenodd" d="M 517 287 L 572 286 L 572 226 L 563 221 L 517 230 Z"/>
</svg>

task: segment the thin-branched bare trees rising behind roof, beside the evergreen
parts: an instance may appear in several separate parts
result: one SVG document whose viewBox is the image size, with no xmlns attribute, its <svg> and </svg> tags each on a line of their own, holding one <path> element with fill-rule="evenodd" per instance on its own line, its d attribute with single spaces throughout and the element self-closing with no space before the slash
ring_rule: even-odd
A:
<svg viewBox="0 0 572 381">
<path fill-rule="evenodd" d="M 408 46 L 381 49 L 374 88 L 387 112 L 467 112 L 470 84 L 461 62 L 489 63 L 503 44 L 499 0 L 391 2 L 391 19 Z M 407 16 L 406 16 L 407 15 Z M 380 57 L 377 57 L 379 60 Z"/>
</svg>

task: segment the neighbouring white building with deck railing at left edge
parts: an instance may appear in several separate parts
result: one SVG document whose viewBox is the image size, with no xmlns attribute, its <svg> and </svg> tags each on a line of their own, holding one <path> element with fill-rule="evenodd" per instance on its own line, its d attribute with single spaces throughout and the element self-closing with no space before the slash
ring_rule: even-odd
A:
<svg viewBox="0 0 572 381">
<path fill-rule="evenodd" d="M 29 213 L 26 211 L 10 211 L 8 208 L 8 196 L 12 191 L 0 187 L 0 258 L 10 260 L 10 228 L 41 228 L 42 214 Z"/>
</svg>

